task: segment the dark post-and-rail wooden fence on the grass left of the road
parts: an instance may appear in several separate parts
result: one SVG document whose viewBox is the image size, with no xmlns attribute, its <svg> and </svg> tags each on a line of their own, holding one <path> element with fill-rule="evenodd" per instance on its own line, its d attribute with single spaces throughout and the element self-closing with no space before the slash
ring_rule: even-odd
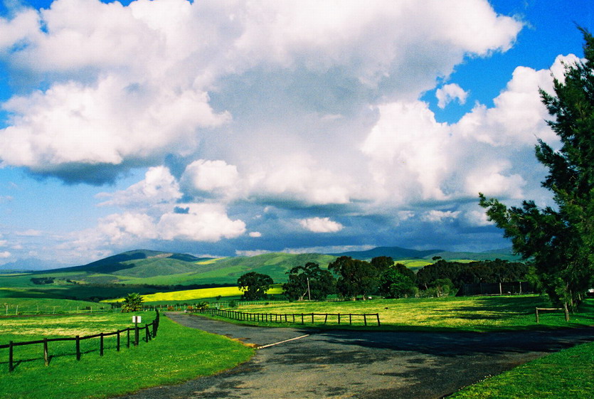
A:
<svg viewBox="0 0 594 399">
<path fill-rule="evenodd" d="M 155 319 L 152 321 L 152 323 L 144 324 L 144 326 L 142 326 L 142 327 L 134 326 L 134 327 L 129 327 L 129 328 L 123 329 L 123 330 L 117 330 L 117 331 L 110 332 L 110 333 L 102 332 L 99 334 L 93 334 L 93 335 L 87 335 L 87 336 L 78 336 L 77 335 L 75 337 L 64 337 L 64 338 L 44 338 L 44 339 L 40 339 L 38 341 L 26 341 L 26 342 L 10 341 L 9 344 L 0 345 L 0 349 L 9 349 L 9 372 L 10 372 L 10 371 L 14 370 L 14 363 L 15 363 L 14 348 L 16 346 L 43 344 L 43 360 L 45 361 L 46 366 L 49 366 L 49 364 L 50 364 L 50 355 L 49 355 L 49 351 L 48 351 L 48 343 L 49 342 L 75 341 L 76 360 L 80 360 L 80 356 L 81 356 L 80 341 L 83 341 L 85 339 L 98 338 L 99 339 L 99 354 L 100 354 L 100 356 L 103 356 L 103 351 L 105 349 L 103 341 L 106 336 L 114 336 L 114 335 L 117 336 L 116 350 L 119 352 L 120 346 L 122 343 L 122 334 L 125 335 L 126 346 L 127 346 L 127 348 L 129 348 L 130 347 L 130 332 L 131 331 L 134 333 L 132 343 L 134 344 L 134 346 L 138 346 L 139 341 L 140 341 L 141 331 L 144 332 L 144 341 L 148 342 L 157 336 L 158 329 L 159 329 L 159 311 L 157 310 L 157 316 L 155 316 Z"/>
</svg>

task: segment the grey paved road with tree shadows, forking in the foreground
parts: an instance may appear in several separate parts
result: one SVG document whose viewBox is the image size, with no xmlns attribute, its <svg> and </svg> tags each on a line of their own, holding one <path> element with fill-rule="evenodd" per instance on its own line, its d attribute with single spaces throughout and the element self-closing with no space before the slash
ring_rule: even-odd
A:
<svg viewBox="0 0 594 399">
<path fill-rule="evenodd" d="M 247 363 L 216 376 L 123 398 L 442 398 L 548 352 L 594 340 L 594 327 L 488 334 L 314 331 L 168 316 L 266 347 Z M 285 340 L 290 341 L 267 346 Z"/>
</svg>

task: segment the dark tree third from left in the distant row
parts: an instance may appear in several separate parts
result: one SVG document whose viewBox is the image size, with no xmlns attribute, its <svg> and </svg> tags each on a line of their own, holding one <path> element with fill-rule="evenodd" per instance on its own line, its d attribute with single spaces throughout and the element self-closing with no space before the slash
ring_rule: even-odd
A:
<svg viewBox="0 0 594 399">
<path fill-rule="evenodd" d="M 367 294 L 378 287 L 378 268 L 364 260 L 341 256 L 328 265 L 328 270 L 339 276 L 336 290 L 343 297 L 355 299 L 357 295 L 362 295 L 366 299 Z"/>
</svg>

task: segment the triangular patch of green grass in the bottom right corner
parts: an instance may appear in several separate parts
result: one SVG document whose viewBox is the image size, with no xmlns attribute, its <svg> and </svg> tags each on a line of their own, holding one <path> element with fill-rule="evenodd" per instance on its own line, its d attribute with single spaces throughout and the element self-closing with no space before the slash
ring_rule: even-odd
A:
<svg viewBox="0 0 594 399">
<path fill-rule="evenodd" d="M 450 399 L 591 398 L 594 392 L 594 342 L 574 346 L 487 378 Z"/>
</svg>

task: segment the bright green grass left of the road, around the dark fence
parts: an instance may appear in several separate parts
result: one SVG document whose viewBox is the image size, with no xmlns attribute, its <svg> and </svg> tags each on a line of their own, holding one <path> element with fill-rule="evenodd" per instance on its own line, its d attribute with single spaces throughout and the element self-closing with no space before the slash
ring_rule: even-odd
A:
<svg viewBox="0 0 594 399">
<path fill-rule="evenodd" d="M 153 314 L 143 314 L 143 321 Z M 115 331 L 129 326 L 129 314 L 103 314 L 101 320 L 90 316 L 55 316 L 31 318 L 33 325 L 19 318 L 12 327 L 2 326 L 4 340 L 28 341 L 43 336 L 85 334 L 87 329 Z M 94 317 L 94 316 L 93 316 Z M 24 323 L 24 324 L 23 324 Z M 100 324 L 97 328 L 95 324 Z M 80 331 L 83 330 L 83 331 Z M 197 376 L 208 376 L 238 363 L 253 354 L 243 344 L 226 337 L 189 329 L 161 317 L 157 338 L 137 347 L 125 346 L 118 353 L 115 338 L 105 339 L 105 356 L 100 357 L 95 341 L 83 347 L 83 356 L 76 361 L 73 349 L 65 346 L 50 348 L 51 363 L 43 365 L 41 345 L 19 346 L 15 350 L 16 370 L 8 373 L 8 350 L 0 351 L 0 398 L 11 399 L 81 399 L 109 398 L 150 386 L 179 383 Z M 58 344 L 58 343 L 56 343 Z M 73 343 L 64 343 L 73 346 Z M 94 348 L 93 346 L 97 346 Z M 26 351 L 24 350 L 26 349 Z M 35 353 L 33 353 L 35 351 Z"/>
</svg>

